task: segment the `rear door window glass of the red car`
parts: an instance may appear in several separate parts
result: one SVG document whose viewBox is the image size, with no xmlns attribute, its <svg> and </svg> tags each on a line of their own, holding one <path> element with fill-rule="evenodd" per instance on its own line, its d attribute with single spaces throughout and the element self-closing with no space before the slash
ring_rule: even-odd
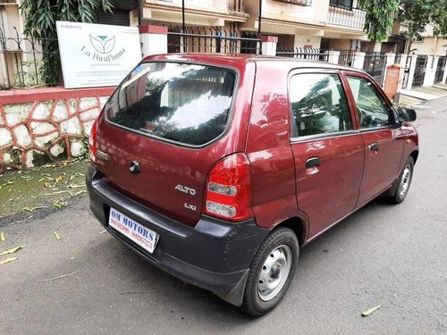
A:
<svg viewBox="0 0 447 335">
<path fill-rule="evenodd" d="M 337 74 L 294 75 L 290 101 L 299 136 L 352 130 L 348 100 Z"/>
</svg>

